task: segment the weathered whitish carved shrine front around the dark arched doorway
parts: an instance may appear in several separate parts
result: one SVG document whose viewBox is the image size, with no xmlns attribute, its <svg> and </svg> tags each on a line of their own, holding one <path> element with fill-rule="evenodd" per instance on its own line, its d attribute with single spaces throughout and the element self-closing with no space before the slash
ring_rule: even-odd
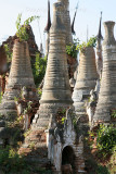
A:
<svg viewBox="0 0 116 174">
<path fill-rule="evenodd" d="M 57 173 L 69 172 L 77 174 L 81 171 L 85 173 L 85 160 L 83 160 L 83 136 L 79 136 L 77 144 L 77 135 L 73 124 L 74 110 L 68 109 L 66 111 L 66 120 L 64 124 L 60 125 L 54 116 L 51 115 L 50 127 L 46 130 L 48 141 L 48 157 L 56 169 Z M 55 116 L 56 117 L 56 116 Z M 72 149 L 68 151 L 67 157 L 69 161 L 63 161 L 64 149 Z M 72 157 L 70 157 L 72 156 Z M 74 158 L 75 157 L 75 158 Z M 72 160 L 70 160 L 72 159 Z"/>
</svg>

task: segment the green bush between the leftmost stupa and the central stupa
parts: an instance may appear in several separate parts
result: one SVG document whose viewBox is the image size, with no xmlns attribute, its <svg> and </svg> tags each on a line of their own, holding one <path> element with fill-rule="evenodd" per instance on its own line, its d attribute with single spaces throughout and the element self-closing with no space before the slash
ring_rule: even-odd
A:
<svg viewBox="0 0 116 174">
<path fill-rule="evenodd" d="M 39 84 L 42 82 L 47 69 L 47 57 L 40 58 L 39 53 L 36 53 L 36 63 L 33 69 L 35 84 L 38 87 Z"/>
</svg>

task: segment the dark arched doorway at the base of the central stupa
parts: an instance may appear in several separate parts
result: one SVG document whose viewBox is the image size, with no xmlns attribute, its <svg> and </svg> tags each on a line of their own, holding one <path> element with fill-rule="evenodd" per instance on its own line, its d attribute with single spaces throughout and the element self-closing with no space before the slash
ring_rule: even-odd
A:
<svg viewBox="0 0 116 174">
<path fill-rule="evenodd" d="M 62 152 L 62 174 L 75 173 L 75 153 L 72 147 L 66 146 Z"/>
</svg>

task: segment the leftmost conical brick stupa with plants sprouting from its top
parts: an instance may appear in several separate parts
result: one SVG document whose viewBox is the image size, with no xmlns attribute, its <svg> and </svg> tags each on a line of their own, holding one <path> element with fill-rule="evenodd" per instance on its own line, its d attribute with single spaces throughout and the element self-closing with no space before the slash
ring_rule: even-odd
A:
<svg viewBox="0 0 116 174">
<path fill-rule="evenodd" d="M 26 41 L 20 42 L 18 40 L 15 40 L 9 80 L 0 104 L 1 114 L 17 114 L 14 98 L 21 96 L 24 86 L 28 91 L 28 100 L 37 100 L 36 86 L 29 60 L 28 44 Z"/>
</svg>

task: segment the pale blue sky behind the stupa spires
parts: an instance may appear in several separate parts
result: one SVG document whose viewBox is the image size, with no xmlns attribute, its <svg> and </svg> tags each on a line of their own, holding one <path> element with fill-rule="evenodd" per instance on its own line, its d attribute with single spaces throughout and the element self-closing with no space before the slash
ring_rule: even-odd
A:
<svg viewBox="0 0 116 174">
<path fill-rule="evenodd" d="M 52 18 L 52 4 L 51 2 L 51 18 Z M 69 0 L 70 20 L 73 20 L 75 8 L 78 0 Z M 0 0 L 0 41 L 7 36 L 12 36 L 16 32 L 15 21 L 18 13 L 22 13 L 22 21 L 24 22 L 31 15 L 39 15 L 39 25 L 37 21 L 31 23 L 36 42 L 42 41 L 44 45 L 46 36 L 43 28 L 47 24 L 47 5 L 48 0 Z M 89 37 L 96 35 L 99 30 L 100 12 L 103 11 L 103 20 L 116 21 L 116 0 L 79 0 L 79 9 L 77 12 L 75 30 L 76 37 L 80 40 L 87 38 L 87 26 L 89 29 Z M 39 32 L 40 29 L 40 32 Z M 102 25 L 102 34 L 104 36 L 104 27 Z M 115 27 L 116 34 L 116 27 Z"/>
</svg>

